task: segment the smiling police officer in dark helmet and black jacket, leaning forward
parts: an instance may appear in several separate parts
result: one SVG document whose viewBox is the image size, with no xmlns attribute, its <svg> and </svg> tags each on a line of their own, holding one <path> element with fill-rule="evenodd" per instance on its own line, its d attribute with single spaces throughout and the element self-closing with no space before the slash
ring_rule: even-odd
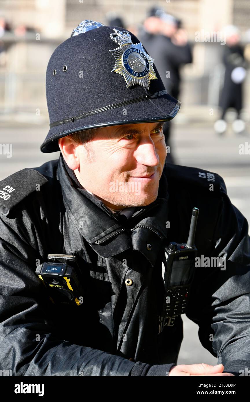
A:
<svg viewBox="0 0 250 402">
<path fill-rule="evenodd" d="M 41 151 L 60 157 L 0 182 L 0 368 L 12 375 L 249 367 L 248 224 L 218 174 L 164 163 L 162 123 L 180 103 L 153 62 L 134 35 L 93 21 L 49 60 Z M 215 367 L 177 365 L 181 314 L 162 308 L 165 246 L 186 241 L 193 207 L 198 257 L 227 262 L 192 267 L 185 310 Z"/>
</svg>

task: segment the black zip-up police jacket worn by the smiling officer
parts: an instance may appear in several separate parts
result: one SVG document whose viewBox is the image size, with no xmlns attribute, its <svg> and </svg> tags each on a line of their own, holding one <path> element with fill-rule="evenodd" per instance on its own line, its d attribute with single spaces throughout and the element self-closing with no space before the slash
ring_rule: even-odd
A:
<svg viewBox="0 0 250 402">
<path fill-rule="evenodd" d="M 131 375 L 164 365 L 167 374 L 183 332 L 181 316 L 161 316 L 163 251 L 169 241 L 187 241 L 193 207 L 198 256 L 225 255 L 226 269 L 195 268 L 186 315 L 224 371 L 250 367 L 248 223 L 223 179 L 166 164 L 157 199 L 121 223 L 74 186 L 60 155 L 0 182 L 0 369 Z M 77 256 L 82 304 L 52 303 L 35 274 L 49 253 Z"/>
</svg>

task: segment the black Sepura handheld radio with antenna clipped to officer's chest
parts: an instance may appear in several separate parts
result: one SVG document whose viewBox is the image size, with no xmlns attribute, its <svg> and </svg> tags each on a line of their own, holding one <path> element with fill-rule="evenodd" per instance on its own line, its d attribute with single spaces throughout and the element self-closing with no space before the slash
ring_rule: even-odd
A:
<svg viewBox="0 0 250 402">
<path fill-rule="evenodd" d="M 178 316 L 184 314 L 189 301 L 190 286 L 195 273 L 195 230 L 199 209 L 193 208 L 189 238 L 186 243 L 170 242 L 165 248 L 162 262 L 162 278 L 165 295 L 162 316 Z"/>
</svg>

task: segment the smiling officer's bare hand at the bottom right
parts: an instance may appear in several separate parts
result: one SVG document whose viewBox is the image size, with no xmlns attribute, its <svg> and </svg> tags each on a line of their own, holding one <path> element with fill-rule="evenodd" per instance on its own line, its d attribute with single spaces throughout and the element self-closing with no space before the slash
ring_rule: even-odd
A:
<svg viewBox="0 0 250 402">
<path fill-rule="evenodd" d="M 231 373 L 222 373 L 224 369 L 223 364 L 211 366 L 210 364 L 180 364 L 172 367 L 168 376 L 170 375 L 233 375 Z"/>
</svg>

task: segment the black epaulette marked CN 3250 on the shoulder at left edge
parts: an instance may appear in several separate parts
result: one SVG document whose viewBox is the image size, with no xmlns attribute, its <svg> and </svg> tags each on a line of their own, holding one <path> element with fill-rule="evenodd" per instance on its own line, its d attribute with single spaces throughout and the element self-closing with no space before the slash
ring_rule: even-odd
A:
<svg viewBox="0 0 250 402">
<path fill-rule="evenodd" d="M 55 162 L 45 162 L 37 168 L 25 168 L 0 181 L 0 211 L 8 215 L 28 195 L 49 181 Z M 51 163 L 52 162 L 52 163 Z M 54 163 L 53 163 L 54 162 Z"/>
</svg>

